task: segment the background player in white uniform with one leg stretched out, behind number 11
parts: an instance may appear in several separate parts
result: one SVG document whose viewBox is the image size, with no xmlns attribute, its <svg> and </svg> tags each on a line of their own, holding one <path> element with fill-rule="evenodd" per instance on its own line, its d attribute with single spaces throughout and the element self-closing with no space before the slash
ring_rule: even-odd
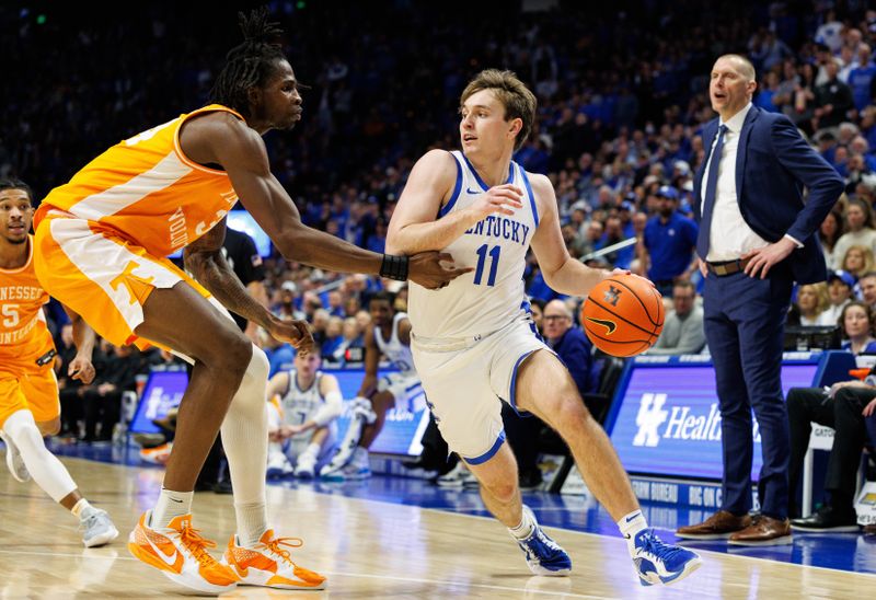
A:
<svg viewBox="0 0 876 600">
<path fill-rule="evenodd" d="M 376 293 L 368 309 L 373 327 L 365 335 L 365 378 L 353 401 L 354 418 L 347 434 L 321 471 L 325 480 L 364 480 L 371 476 L 368 448 L 383 429 L 387 411 L 404 405 L 422 391 L 419 376 L 411 356 L 411 321 L 407 314 L 395 312 L 395 295 Z M 380 358 L 384 357 L 397 371 L 378 379 Z"/>
</svg>

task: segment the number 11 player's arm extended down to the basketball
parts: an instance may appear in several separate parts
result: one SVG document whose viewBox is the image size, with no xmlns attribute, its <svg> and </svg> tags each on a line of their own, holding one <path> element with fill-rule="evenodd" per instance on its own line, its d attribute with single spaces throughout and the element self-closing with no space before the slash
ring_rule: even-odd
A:
<svg viewBox="0 0 876 600">
<path fill-rule="evenodd" d="M 608 277 L 610 272 L 590 268 L 569 255 L 560 230 L 556 195 L 551 181 L 532 173 L 529 178 L 541 215 L 539 228 L 532 236 L 532 252 L 544 281 L 560 293 L 586 297 L 590 288 Z"/>
</svg>

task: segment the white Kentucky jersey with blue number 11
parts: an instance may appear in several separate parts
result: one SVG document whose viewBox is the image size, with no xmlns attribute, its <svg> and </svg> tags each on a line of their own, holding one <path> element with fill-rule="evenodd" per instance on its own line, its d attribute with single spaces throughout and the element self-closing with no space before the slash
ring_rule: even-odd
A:
<svg viewBox="0 0 876 600">
<path fill-rule="evenodd" d="M 438 219 L 468 208 L 488 187 L 460 151 L 457 183 Z M 523 286 L 527 251 L 539 227 L 535 196 L 526 171 L 511 162 L 508 178 L 523 191 L 523 206 L 514 215 L 494 214 L 443 249 L 459 267 L 473 267 L 446 288 L 428 290 L 411 282 L 408 313 L 415 335 L 454 338 L 486 335 L 521 314 L 528 304 Z"/>
</svg>

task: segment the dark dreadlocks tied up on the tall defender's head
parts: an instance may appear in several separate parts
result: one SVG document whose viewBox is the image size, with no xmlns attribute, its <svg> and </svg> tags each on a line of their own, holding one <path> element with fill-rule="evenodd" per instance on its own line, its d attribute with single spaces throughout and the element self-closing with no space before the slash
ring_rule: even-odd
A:
<svg viewBox="0 0 876 600">
<path fill-rule="evenodd" d="M 279 23 L 269 23 L 267 7 L 238 13 L 243 43 L 226 55 L 226 66 L 210 90 L 210 104 L 222 104 L 249 116 L 251 88 L 264 85 L 276 70 L 277 60 L 286 60 L 276 39 L 283 35 Z"/>
</svg>

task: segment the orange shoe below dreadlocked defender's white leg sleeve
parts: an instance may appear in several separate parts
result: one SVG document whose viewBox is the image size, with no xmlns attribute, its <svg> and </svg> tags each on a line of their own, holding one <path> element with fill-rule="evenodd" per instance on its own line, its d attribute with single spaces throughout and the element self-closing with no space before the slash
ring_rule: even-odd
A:
<svg viewBox="0 0 876 600">
<path fill-rule="evenodd" d="M 274 530 L 268 529 L 255 547 L 245 547 L 238 544 L 237 535 L 232 535 L 222 555 L 222 564 L 237 573 L 242 586 L 325 589 L 324 576 L 296 565 L 289 551 L 280 545 L 301 547 L 304 543 L 298 538 L 274 538 Z"/>
</svg>

